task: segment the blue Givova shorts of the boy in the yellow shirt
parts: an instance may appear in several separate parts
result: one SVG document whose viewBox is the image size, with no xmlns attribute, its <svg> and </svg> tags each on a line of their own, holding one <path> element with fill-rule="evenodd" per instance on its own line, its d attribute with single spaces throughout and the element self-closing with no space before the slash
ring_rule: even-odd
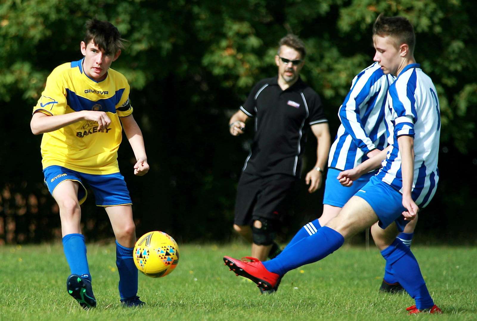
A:
<svg viewBox="0 0 477 321">
<path fill-rule="evenodd" d="M 80 184 L 78 188 L 78 201 L 80 204 L 86 200 L 88 192 L 84 187 L 89 185 L 93 190 L 97 206 L 114 206 L 132 204 L 129 191 L 121 173 L 107 175 L 85 174 L 71 169 L 52 165 L 43 169 L 45 184 L 53 195 L 55 188 L 63 181 L 75 181 Z M 61 186 L 60 186 L 61 188 Z"/>
</svg>

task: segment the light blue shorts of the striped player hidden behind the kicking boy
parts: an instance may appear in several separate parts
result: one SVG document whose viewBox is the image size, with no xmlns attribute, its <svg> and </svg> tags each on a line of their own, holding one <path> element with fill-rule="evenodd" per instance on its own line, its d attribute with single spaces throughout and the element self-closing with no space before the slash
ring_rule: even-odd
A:
<svg viewBox="0 0 477 321">
<path fill-rule="evenodd" d="M 325 193 L 323 196 L 323 204 L 328 204 L 336 207 L 343 207 L 346 202 L 350 200 L 357 191 L 368 183 L 371 176 L 376 172 L 362 175 L 358 180 L 353 182 L 353 185 L 346 187 L 340 184 L 336 179 L 341 171 L 334 168 L 328 168 L 328 174 L 325 181 Z"/>
</svg>

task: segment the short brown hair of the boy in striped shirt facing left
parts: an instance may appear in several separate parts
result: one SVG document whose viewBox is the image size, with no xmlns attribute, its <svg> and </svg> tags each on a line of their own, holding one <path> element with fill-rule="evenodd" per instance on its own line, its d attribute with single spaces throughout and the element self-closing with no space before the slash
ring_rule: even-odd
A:
<svg viewBox="0 0 477 321">
<path fill-rule="evenodd" d="M 409 51 L 414 53 L 415 34 L 411 22 L 404 17 L 384 17 L 381 13 L 373 25 L 373 36 L 392 36 L 396 39 L 397 46 L 405 43 Z"/>
</svg>

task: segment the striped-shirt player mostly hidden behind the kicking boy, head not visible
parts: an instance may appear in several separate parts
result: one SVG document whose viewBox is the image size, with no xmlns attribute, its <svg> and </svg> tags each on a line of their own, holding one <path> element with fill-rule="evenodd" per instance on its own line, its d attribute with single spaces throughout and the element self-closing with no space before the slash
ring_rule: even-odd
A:
<svg viewBox="0 0 477 321">
<path fill-rule="evenodd" d="M 393 75 L 384 74 L 378 62 L 364 68 L 353 78 L 351 89 L 338 111 L 342 124 L 338 128 L 328 159 L 322 215 L 305 224 L 287 246 L 316 233 L 321 226 L 336 217 L 344 204 L 376 175 L 377 169 L 363 174 L 352 186 L 347 187 L 336 179 L 340 172 L 360 165 L 387 146 L 384 107 L 388 88 L 394 80 Z M 417 220 L 398 235 L 407 246 L 411 245 L 415 223 Z M 380 291 L 396 293 L 403 290 L 394 277 L 391 266 L 386 264 Z"/>
</svg>

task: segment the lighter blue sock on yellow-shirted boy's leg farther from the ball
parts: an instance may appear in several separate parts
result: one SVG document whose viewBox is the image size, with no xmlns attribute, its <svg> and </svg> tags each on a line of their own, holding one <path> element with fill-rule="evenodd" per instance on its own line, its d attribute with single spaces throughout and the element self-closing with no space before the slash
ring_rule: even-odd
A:
<svg viewBox="0 0 477 321">
<path fill-rule="evenodd" d="M 83 234 L 67 234 L 63 237 L 62 242 L 64 255 L 70 266 L 71 274 L 81 275 L 91 281 Z"/>
</svg>

